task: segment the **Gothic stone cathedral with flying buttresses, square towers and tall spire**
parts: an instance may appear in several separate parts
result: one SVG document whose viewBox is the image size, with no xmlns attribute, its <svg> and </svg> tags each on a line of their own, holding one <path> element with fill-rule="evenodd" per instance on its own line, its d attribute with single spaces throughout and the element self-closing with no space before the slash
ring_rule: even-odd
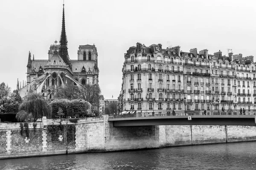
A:
<svg viewBox="0 0 256 170">
<path fill-rule="evenodd" d="M 95 45 L 79 45 L 77 60 L 70 59 L 67 49 L 63 4 L 59 44 L 55 41 L 55 44 L 50 45 L 48 59 L 35 59 L 34 56 L 32 58 L 29 51 L 25 86 L 21 88 L 21 82 L 17 82 L 17 89 L 22 98 L 29 91 L 33 91 L 52 99 L 59 88 L 98 84 L 98 53 Z"/>
</svg>

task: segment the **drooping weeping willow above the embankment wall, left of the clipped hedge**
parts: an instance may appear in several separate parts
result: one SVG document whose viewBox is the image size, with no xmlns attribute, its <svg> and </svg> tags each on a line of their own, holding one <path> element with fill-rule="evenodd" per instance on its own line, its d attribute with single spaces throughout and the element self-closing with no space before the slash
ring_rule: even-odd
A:
<svg viewBox="0 0 256 170">
<path fill-rule="evenodd" d="M 36 121 L 43 116 L 50 119 L 52 117 L 52 107 L 43 96 L 32 93 L 23 99 L 16 118 L 18 121 L 24 122 L 29 119 L 34 119 L 34 121 Z"/>
</svg>

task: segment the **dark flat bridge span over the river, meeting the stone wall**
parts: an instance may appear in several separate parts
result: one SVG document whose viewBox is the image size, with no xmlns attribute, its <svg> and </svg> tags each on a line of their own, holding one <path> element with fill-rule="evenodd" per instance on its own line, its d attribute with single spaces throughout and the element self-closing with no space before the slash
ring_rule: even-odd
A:
<svg viewBox="0 0 256 170">
<path fill-rule="evenodd" d="M 109 116 L 108 122 L 114 127 L 154 125 L 241 125 L 256 126 L 256 115 L 176 115 L 125 117 Z"/>
</svg>

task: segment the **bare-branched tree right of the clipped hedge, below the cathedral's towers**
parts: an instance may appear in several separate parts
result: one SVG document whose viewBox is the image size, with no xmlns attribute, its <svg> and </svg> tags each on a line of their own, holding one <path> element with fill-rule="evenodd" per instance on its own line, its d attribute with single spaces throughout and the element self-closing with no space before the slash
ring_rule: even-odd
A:
<svg viewBox="0 0 256 170">
<path fill-rule="evenodd" d="M 99 106 L 99 99 L 100 99 L 101 90 L 99 85 L 91 85 L 86 84 L 82 88 L 80 88 L 80 98 L 87 100 L 93 107 Z"/>
</svg>

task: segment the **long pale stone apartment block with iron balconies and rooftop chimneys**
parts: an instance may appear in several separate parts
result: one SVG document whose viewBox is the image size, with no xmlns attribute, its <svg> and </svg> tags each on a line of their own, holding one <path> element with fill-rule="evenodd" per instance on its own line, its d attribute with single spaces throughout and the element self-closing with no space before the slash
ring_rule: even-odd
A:
<svg viewBox="0 0 256 170">
<path fill-rule="evenodd" d="M 119 110 L 142 115 L 256 109 L 253 56 L 163 49 L 137 42 L 124 55 Z"/>
</svg>

